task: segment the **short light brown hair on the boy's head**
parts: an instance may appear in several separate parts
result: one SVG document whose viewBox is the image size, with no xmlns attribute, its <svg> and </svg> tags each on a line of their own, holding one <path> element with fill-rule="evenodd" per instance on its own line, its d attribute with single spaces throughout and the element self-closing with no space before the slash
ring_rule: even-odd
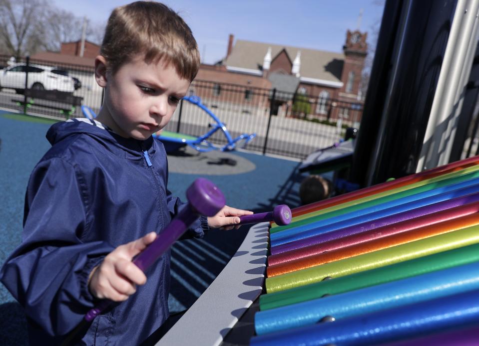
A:
<svg viewBox="0 0 479 346">
<path fill-rule="evenodd" d="M 116 7 L 108 18 L 100 54 L 115 73 L 138 54 L 146 63 L 173 64 L 182 78 L 192 81 L 200 56 L 193 33 L 168 6 L 153 1 L 136 1 Z"/>
</svg>

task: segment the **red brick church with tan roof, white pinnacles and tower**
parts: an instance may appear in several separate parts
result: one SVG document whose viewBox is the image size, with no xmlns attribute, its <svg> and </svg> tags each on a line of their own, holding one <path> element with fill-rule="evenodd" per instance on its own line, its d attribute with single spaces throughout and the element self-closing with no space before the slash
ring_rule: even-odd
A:
<svg viewBox="0 0 479 346">
<path fill-rule="evenodd" d="M 349 118 L 362 108 L 366 37 L 367 33 L 348 30 L 343 53 L 335 53 L 245 40 L 233 45 L 230 35 L 226 58 L 217 66 L 202 65 L 196 79 L 215 83 L 213 90 L 201 92 L 210 103 L 230 99 L 220 89 L 223 83 L 231 83 L 244 88 L 245 98 L 248 88 L 276 88 L 280 115 L 291 115 L 295 94 L 304 94 L 311 114 Z"/>
</svg>

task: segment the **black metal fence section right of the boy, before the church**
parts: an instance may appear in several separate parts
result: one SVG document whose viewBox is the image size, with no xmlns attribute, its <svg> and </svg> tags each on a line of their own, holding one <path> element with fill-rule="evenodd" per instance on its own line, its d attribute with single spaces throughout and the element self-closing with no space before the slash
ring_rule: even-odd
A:
<svg viewBox="0 0 479 346">
<path fill-rule="evenodd" d="M 318 99 L 304 94 L 195 80 L 190 95 L 225 124 L 232 138 L 256 134 L 247 149 L 304 159 L 309 153 L 344 138 L 347 127 L 359 127 L 358 103 Z M 185 100 L 165 130 L 192 136 L 209 131 L 214 120 L 200 107 Z M 209 141 L 223 146 L 226 136 L 218 131 Z"/>
</svg>

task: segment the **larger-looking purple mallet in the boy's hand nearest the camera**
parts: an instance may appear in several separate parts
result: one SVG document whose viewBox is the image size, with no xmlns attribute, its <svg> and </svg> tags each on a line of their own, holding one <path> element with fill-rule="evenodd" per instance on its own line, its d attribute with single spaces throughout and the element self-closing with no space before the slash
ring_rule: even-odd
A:
<svg viewBox="0 0 479 346">
<path fill-rule="evenodd" d="M 198 178 L 193 181 L 186 190 L 186 198 L 188 203 L 178 212 L 178 215 L 133 260 L 133 263 L 143 272 L 173 245 L 200 215 L 214 216 L 225 205 L 223 193 L 215 184 L 204 178 Z M 93 321 L 110 304 L 109 300 L 101 301 L 85 315 L 84 320 L 86 322 Z"/>
</svg>

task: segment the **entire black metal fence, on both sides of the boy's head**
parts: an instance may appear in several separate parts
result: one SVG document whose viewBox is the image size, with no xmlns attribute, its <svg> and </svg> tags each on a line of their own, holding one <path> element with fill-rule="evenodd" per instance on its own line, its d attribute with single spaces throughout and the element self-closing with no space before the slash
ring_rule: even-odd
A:
<svg viewBox="0 0 479 346">
<path fill-rule="evenodd" d="M 94 112 L 101 107 L 103 89 L 96 84 L 93 66 L 26 58 L 14 62 L 1 55 L 0 66 L 2 108 L 66 119 L 82 116 L 79 105 Z M 362 114 L 359 101 L 201 80 L 193 81 L 189 95 L 198 96 L 225 124 L 231 137 L 255 134 L 247 150 L 297 159 L 340 141 L 347 127 L 359 128 Z M 200 107 L 182 100 L 165 130 L 199 137 L 212 123 L 214 120 Z M 208 140 L 218 146 L 228 143 L 221 131 Z"/>
</svg>

